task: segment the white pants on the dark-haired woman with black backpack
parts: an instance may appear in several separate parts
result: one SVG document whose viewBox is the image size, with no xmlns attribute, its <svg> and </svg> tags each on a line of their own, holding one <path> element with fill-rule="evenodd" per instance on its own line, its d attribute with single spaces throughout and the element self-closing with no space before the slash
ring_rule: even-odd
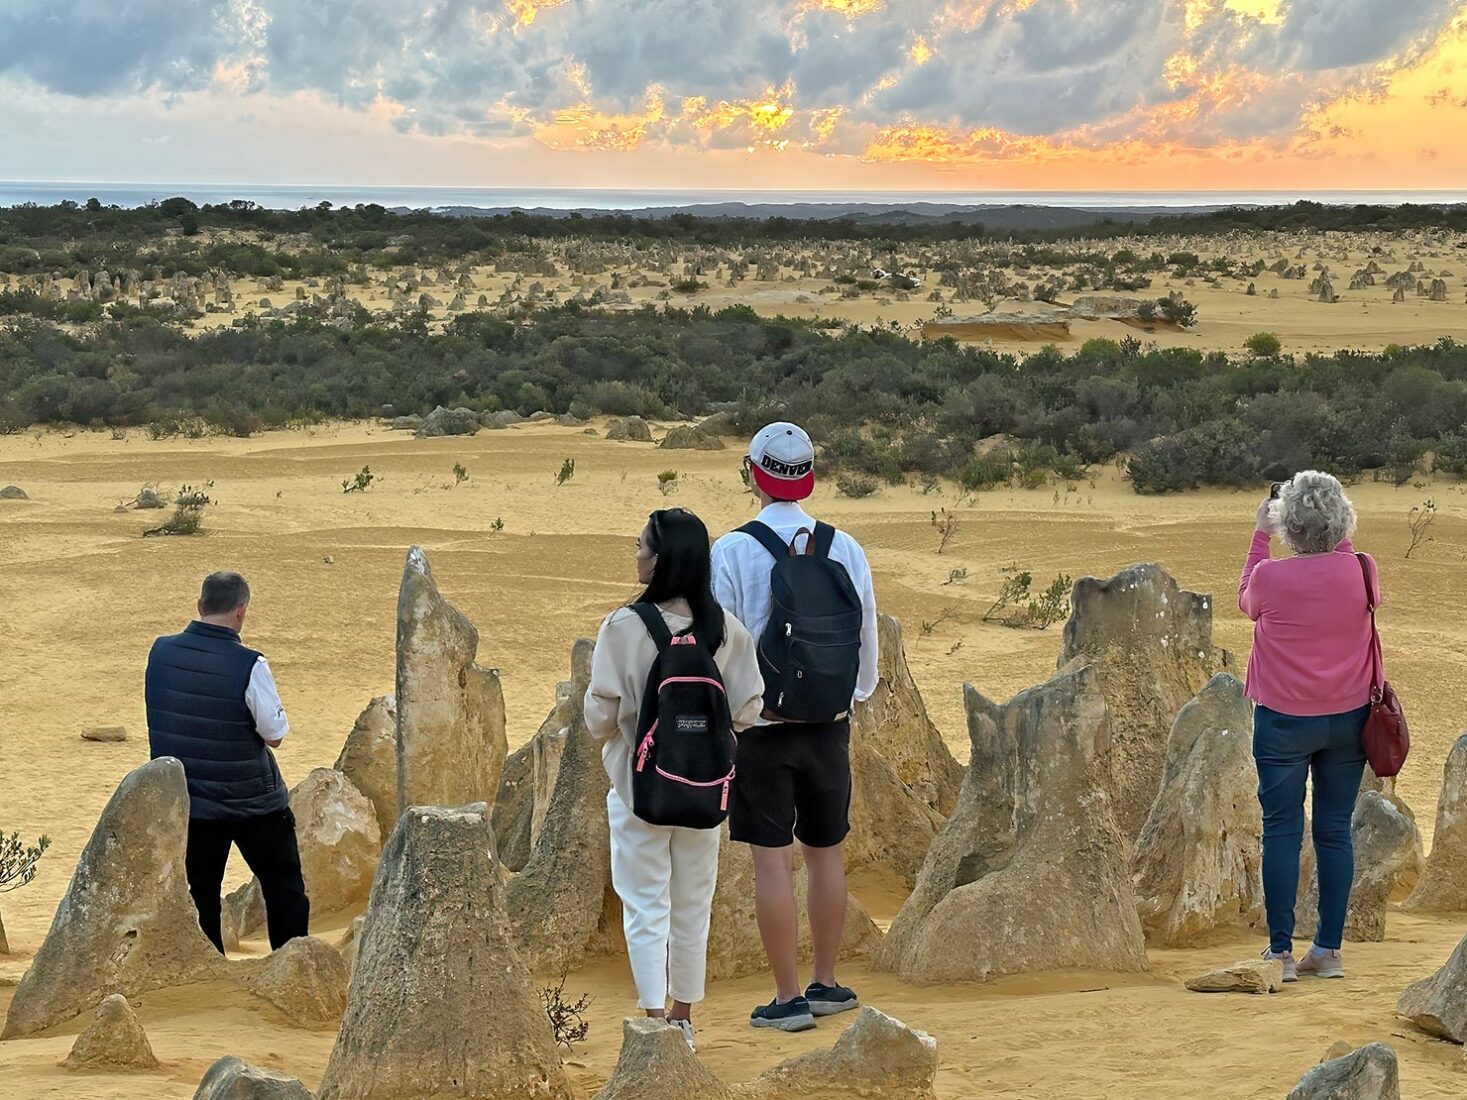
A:
<svg viewBox="0 0 1467 1100">
<path fill-rule="evenodd" d="M 703 1000 L 709 968 L 720 830 L 647 824 L 615 789 L 606 795 L 606 815 L 637 1005 L 665 1009 L 669 994 L 694 1005 Z"/>
</svg>

